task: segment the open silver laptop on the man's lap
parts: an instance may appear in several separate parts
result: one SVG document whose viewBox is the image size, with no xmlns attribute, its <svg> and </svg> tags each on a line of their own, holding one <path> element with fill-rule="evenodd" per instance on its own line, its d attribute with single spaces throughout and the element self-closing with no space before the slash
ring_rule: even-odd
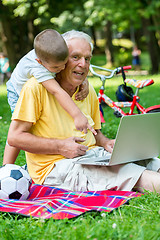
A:
<svg viewBox="0 0 160 240">
<path fill-rule="evenodd" d="M 160 155 L 160 112 L 127 115 L 120 120 L 112 154 L 78 157 L 76 164 L 112 166 Z"/>
</svg>

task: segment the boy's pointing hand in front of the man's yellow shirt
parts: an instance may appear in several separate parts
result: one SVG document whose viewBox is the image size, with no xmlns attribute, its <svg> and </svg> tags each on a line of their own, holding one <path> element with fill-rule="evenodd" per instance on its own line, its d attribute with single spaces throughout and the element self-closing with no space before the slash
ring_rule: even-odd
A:
<svg viewBox="0 0 160 240">
<path fill-rule="evenodd" d="M 77 130 L 84 132 L 87 134 L 87 129 L 89 129 L 94 135 L 97 135 L 97 132 L 94 128 L 88 123 L 87 118 L 83 115 L 83 113 L 78 114 L 77 117 L 74 118 L 74 124 Z"/>
</svg>

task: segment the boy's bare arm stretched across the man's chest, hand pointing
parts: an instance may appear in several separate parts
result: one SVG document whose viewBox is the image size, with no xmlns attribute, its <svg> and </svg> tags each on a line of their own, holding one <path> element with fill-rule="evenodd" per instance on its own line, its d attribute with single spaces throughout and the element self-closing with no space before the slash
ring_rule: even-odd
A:
<svg viewBox="0 0 160 240">
<path fill-rule="evenodd" d="M 93 132 L 93 134 L 96 134 L 96 131 L 89 125 L 87 118 L 80 111 L 68 93 L 60 87 L 55 79 L 44 81 L 42 85 L 48 90 L 48 92 L 56 97 L 61 106 L 74 119 L 77 130 L 84 131 L 86 134 L 87 129 L 89 129 Z"/>
</svg>

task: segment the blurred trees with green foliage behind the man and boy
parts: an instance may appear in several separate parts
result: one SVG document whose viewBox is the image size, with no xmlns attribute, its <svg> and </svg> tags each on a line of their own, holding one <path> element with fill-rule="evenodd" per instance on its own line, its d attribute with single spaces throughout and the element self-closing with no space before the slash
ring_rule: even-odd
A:
<svg viewBox="0 0 160 240">
<path fill-rule="evenodd" d="M 7 54 L 12 69 L 46 28 L 87 32 L 94 54 L 105 54 L 102 64 L 109 67 L 131 63 L 136 44 L 144 53 L 143 68 L 159 71 L 159 0 L 0 0 L 0 51 Z"/>
</svg>

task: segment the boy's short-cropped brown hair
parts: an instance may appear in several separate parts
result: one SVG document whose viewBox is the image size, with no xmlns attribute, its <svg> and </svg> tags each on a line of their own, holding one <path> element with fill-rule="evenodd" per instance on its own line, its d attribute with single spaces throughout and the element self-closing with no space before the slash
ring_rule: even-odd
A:
<svg viewBox="0 0 160 240">
<path fill-rule="evenodd" d="M 62 35 L 53 29 L 40 32 L 34 39 L 37 57 L 45 62 L 64 61 L 68 57 L 68 47 Z"/>
</svg>

